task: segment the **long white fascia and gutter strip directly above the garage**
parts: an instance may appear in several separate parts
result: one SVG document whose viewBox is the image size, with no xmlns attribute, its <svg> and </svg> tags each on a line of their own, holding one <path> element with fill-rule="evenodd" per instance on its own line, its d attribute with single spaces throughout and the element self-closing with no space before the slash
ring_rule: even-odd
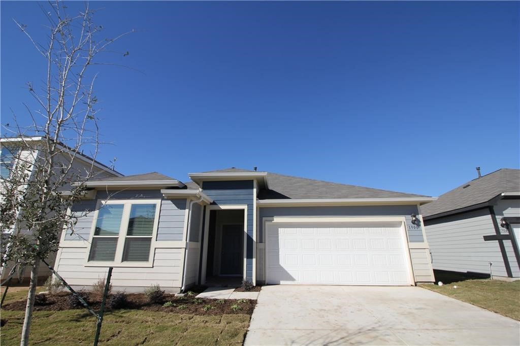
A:
<svg viewBox="0 0 520 346">
<path fill-rule="evenodd" d="M 314 205 L 391 205 L 426 204 L 436 201 L 437 197 L 397 197 L 397 198 L 322 198 L 322 199 L 261 199 L 259 207 L 289 207 Z"/>
</svg>

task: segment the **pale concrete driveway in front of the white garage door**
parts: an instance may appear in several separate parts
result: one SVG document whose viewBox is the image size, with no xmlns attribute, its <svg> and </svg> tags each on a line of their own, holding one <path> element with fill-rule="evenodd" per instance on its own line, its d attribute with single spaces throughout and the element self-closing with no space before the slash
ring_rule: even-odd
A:
<svg viewBox="0 0 520 346">
<path fill-rule="evenodd" d="M 264 286 L 245 345 L 519 345 L 520 323 L 420 287 Z"/>
</svg>

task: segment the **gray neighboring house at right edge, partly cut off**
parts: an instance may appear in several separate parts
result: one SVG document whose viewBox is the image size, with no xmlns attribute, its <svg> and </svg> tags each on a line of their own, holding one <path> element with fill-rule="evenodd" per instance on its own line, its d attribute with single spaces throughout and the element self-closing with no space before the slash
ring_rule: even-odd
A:
<svg viewBox="0 0 520 346">
<path fill-rule="evenodd" d="M 517 280 L 520 170 L 478 175 L 421 208 L 433 268 Z"/>
</svg>

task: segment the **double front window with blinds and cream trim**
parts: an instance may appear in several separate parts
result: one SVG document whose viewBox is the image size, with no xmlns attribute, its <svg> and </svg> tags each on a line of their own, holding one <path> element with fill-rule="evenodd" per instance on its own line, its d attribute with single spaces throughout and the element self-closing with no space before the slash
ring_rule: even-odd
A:
<svg viewBox="0 0 520 346">
<path fill-rule="evenodd" d="M 88 262 L 150 262 L 159 207 L 160 201 L 105 202 L 97 212 Z"/>
</svg>

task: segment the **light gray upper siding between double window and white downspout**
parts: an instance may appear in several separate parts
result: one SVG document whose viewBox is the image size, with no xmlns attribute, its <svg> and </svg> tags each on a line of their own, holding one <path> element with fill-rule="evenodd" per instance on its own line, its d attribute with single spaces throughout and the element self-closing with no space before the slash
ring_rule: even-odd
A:
<svg viewBox="0 0 520 346">
<path fill-rule="evenodd" d="M 163 199 L 161 202 L 157 240 L 183 240 L 185 216 L 186 199 Z"/>
</svg>

